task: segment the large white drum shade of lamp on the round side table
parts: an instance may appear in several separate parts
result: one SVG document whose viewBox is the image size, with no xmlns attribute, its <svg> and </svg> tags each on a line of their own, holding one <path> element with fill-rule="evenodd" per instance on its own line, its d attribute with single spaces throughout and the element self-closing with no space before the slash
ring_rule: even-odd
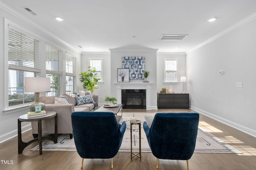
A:
<svg viewBox="0 0 256 170">
<path fill-rule="evenodd" d="M 50 77 L 25 77 L 25 92 L 48 92 Z"/>
</svg>

